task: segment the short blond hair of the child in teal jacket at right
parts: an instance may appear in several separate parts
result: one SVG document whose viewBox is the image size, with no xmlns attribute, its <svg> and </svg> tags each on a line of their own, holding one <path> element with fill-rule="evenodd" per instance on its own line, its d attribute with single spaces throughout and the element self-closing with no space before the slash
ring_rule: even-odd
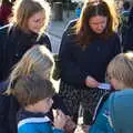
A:
<svg viewBox="0 0 133 133">
<path fill-rule="evenodd" d="M 108 65 L 108 76 L 133 88 L 133 52 L 120 53 Z"/>
</svg>

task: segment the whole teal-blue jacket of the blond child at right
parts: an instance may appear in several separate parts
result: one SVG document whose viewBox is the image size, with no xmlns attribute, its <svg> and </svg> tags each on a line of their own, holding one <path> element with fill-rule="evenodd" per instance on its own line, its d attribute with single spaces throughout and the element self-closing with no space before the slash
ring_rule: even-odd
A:
<svg viewBox="0 0 133 133">
<path fill-rule="evenodd" d="M 116 91 L 102 105 L 89 133 L 133 133 L 133 89 Z"/>
</svg>

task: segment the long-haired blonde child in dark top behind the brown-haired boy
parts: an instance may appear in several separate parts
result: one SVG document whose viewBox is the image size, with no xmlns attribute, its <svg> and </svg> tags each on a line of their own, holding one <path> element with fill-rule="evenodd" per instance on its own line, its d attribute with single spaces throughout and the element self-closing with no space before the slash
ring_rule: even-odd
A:
<svg viewBox="0 0 133 133">
<path fill-rule="evenodd" d="M 8 85 L 6 94 L 0 94 L 0 106 L 2 106 L 0 109 L 0 133 L 17 133 L 16 114 L 19 105 L 18 101 L 10 93 L 14 81 L 19 76 L 27 76 L 31 73 L 50 79 L 53 65 L 53 58 L 44 45 L 32 47 L 27 51 L 21 61 L 18 62 L 11 72 L 8 83 L 3 84 L 6 85 L 3 91 L 7 90 Z"/>
</svg>

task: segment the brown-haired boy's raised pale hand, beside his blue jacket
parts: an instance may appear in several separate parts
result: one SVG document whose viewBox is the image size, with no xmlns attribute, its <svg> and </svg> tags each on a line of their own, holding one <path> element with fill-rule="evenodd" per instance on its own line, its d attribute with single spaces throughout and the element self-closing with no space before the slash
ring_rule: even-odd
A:
<svg viewBox="0 0 133 133">
<path fill-rule="evenodd" d="M 61 110 L 54 110 L 53 116 L 54 116 L 54 123 L 53 123 L 54 127 L 63 130 L 66 122 L 66 116 L 63 114 Z"/>
</svg>

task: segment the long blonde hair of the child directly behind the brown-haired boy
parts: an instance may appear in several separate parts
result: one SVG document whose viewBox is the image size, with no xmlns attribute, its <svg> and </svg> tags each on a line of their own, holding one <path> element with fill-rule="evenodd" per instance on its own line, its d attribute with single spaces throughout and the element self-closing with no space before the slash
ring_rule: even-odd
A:
<svg viewBox="0 0 133 133">
<path fill-rule="evenodd" d="M 35 73 L 44 79 L 51 79 L 54 61 L 50 51 L 44 45 L 34 45 L 28 50 L 22 59 L 14 65 L 10 78 L 8 92 L 13 88 L 16 80 Z"/>
</svg>

